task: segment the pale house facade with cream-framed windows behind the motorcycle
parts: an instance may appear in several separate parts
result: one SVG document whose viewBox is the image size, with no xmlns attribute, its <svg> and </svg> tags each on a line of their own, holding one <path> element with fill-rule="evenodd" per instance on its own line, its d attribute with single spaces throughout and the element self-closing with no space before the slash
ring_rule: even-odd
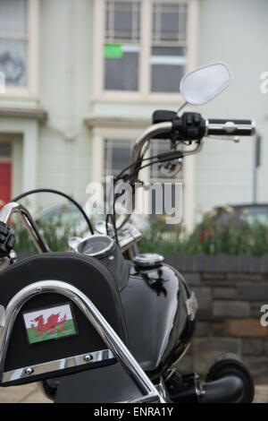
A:
<svg viewBox="0 0 268 421">
<path fill-rule="evenodd" d="M 262 136 L 257 200 L 267 202 L 266 0 L 0 0 L 0 198 L 50 187 L 87 200 L 127 166 L 155 109 L 180 107 L 180 78 L 198 65 L 230 66 L 230 88 L 205 117 L 254 118 Z M 187 110 L 194 109 L 187 107 Z M 150 153 L 168 149 L 155 142 Z M 185 159 L 183 215 L 252 202 L 255 141 L 205 140 Z M 147 181 L 165 181 L 157 168 Z M 32 199 L 49 206 L 53 198 Z"/>
</svg>

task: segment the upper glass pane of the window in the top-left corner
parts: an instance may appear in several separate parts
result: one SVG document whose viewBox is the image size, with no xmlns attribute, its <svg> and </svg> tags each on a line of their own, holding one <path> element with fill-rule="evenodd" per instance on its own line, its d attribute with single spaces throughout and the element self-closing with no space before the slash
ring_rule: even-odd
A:
<svg viewBox="0 0 268 421">
<path fill-rule="evenodd" d="M 28 0 L 0 0 L 0 37 L 27 36 Z"/>
</svg>

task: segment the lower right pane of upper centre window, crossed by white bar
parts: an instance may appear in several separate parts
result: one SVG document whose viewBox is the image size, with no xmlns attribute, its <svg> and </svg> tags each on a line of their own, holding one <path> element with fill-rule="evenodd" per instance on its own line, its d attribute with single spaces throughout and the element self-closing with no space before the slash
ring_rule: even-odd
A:
<svg viewBox="0 0 268 421">
<path fill-rule="evenodd" d="M 179 92 L 185 73 L 185 48 L 153 47 L 151 56 L 153 92 Z"/>
</svg>

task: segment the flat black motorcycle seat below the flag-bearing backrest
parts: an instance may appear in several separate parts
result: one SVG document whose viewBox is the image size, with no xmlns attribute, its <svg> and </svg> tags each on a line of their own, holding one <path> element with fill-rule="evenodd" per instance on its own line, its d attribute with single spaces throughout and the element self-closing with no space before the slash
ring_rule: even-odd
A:
<svg viewBox="0 0 268 421">
<path fill-rule="evenodd" d="M 113 403 L 142 396 L 119 363 L 63 377 L 55 403 Z"/>
</svg>

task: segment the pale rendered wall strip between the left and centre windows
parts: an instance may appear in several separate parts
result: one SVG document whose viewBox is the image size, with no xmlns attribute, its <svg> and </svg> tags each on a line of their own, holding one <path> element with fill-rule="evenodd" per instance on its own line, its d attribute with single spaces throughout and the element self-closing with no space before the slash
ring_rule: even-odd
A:
<svg viewBox="0 0 268 421">
<path fill-rule="evenodd" d="M 90 104 L 91 1 L 46 0 L 40 16 L 40 101 L 49 119 L 40 128 L 38 186 L 84 201 L 91 156 L 84 124 Z"/>
</svg>

